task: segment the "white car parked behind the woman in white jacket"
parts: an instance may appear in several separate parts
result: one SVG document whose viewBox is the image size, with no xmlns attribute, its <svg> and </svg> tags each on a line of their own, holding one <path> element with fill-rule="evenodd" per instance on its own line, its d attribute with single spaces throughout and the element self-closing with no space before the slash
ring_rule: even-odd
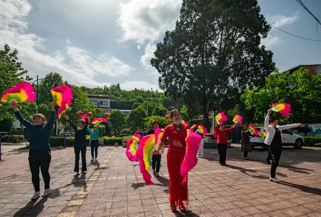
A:
<svg viewBox="0 0 321 217">
<path fill-rule="evenodd" d="M 265 131 L 264 127 L 256 127 L 256 129 L 260 131 Z M 301 148 L 303 146 L 304 140 L 302 136 L 292 133 L 289 130 L 282 130 L 282 134 L 283 134 L 283 146 L 293 145 L 294 148 Z M 255 146 L 261 146 L 266 150 L 268 149 L 267 145 L 264 144 L 264 140 L 258 136 L 255 136 L 255 137 L 250 136 L 250 144 L 252 148 L 254 148 Z"/>
</svg>

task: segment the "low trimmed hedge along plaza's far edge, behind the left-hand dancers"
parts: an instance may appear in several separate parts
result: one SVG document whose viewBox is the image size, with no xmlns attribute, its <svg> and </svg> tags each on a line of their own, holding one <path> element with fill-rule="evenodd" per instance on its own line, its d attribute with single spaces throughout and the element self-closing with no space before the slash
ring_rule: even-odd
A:
<svg viewBox="0 0 321 217">
<path fill-rule="evenodd" d="M 113 146 L 115 143 L 118 143 L 118 145 L 121 145 L 121 140 L 129 139 L 128 137 L 100 137 L 99 139 L 104 140 L 104 145 L 110 145 Z M 86 136 L 86 143 L 89 144 L 89 137 Z M 67 137 L 66 145 L 67 146 L 73 146 L 75 144 L 75 138 L 74 137 Z M 60 136 L 51 136 L 50 137 L 50 146 L 64 146 L 65 145 L 65 137 Z"/>
</svg>

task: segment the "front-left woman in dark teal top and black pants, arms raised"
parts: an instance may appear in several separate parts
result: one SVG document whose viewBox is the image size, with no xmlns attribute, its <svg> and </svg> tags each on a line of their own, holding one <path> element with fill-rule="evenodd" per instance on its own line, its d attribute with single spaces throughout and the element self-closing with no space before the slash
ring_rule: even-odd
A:
<svg viewBox="0 0 321 217">
<path fill-rule="evenodd" d="M 48 123 L 45 122 L 43 114 L 35 114 L 32 117 L 33 123 L 26 120 L 18 110 L 17 100 L 10 101 L 14 108 L 15 115 L 18 120 L 30 131 L 30 149 L 29 149 L 29 166 L 31 170 L 31 179 L 35 188 L 35 194 L 31 198 L 36 200 L 40 196 L 40 179 L 39 167 L 45 182 L 45 191 L 42 196 L 48 196 L 51 193 L 50 189 L 50 174 L 49 165 L 51 161 L 50 150 L 50 132 L 55 122 L 55 105 L 56 102 L 51 103 L 51 113 Z"/>
</svg>

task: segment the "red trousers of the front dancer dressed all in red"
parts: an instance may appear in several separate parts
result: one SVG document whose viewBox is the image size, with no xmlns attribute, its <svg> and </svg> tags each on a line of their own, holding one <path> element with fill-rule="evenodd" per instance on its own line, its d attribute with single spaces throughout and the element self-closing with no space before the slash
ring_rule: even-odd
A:
<svg viewBox="0 0 321 217">
<path fill-rule="evenodd" d="M 170 202 L 178 204 L 183 203 L 185 207 L 189 203 L 188 181 L 182 183 L 181 164 L 184 160 L 185 152 L 168 152 L 167 168 L 170 175 Z"/>
</svg>

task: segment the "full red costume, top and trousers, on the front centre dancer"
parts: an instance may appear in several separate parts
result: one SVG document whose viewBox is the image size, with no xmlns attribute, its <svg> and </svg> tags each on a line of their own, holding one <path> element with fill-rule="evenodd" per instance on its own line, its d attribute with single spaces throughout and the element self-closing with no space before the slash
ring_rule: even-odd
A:
<svg viewBox="0 0 321 217">
<path fill-rule="evenodd" d="M 185 157 L 187 124 L 181 124 L 180 130 L 174 124 L 168 125 L 162 137 L 165 142 L 169 138 L 169 150 L 167 152 L 167 167 L 170 175 L 170 202 L 178 206 L 183 203 L 186 207 L 189 202 L 188 182 L 182 183 L 181 164 Z"/>
</svg>

